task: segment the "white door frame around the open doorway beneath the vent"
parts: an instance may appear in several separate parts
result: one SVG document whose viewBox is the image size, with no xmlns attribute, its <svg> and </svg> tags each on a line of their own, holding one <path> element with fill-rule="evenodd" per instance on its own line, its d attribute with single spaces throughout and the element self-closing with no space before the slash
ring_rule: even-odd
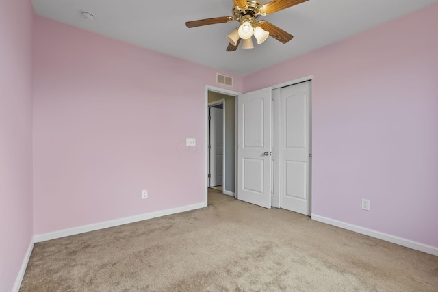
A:
<svg viewBox="0 0 438 292">
<path fill-rule="evenodd" d="M 237 92 L 233 90 L 227 90 L 224 88 L 217 88 L 216 86 L 212 85 L 205 85 L 205 105 L 204 105 L 204 125 L 205 125 L 205 132 L 204 132 L 204 152 L 205 152 L 205 168 L 204 168 L 204 205 L 207 207 L 208 204 L 208 92 L 218 92 L 222 94 L 227 94 L 229 96 L 234 96 L 235 101 L 237 102 L 237 96 L 239 94 L 242 94 L 242 92 Z M 237 111 L 236 111 L 237 116 Z M 237 127 L 237 123 L 235 124 L 235 127 Z M 237 131 L 235 131 L 237 135 Z M 237 141 L 237 137 L 236 140 Z M 235 171 L 235 176 L 237 176 L 237 170 Z M 235 183 L 237 183 L 237 177 L 235 177 Z M 235 186 L 235 196 L 237 196 L 237 186 Z"/>
</svg>

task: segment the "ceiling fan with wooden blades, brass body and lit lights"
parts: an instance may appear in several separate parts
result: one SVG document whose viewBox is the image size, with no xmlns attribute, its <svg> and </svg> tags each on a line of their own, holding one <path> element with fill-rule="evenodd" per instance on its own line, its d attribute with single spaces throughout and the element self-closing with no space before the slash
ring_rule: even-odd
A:
<svg viewBox="0 0 438 292">
<path fill-rule="evenodd" d="M 272 36 L 272 38 L 285 44 L 286 42 L 289 42 L 289 40 L 292 40 L 294 36 L 283 29 L 276 27 L 272 23 L 268 23 L 268 21 L 259 21 L 259 17 L 272 14 L 305 1 L 308 0 L 272 0 L 269 3 L 262 5 L 260 0 L 233 0 L 233 10 L 231 10 L 233 16 L 188 21 L 185 25 L 192 28 L 203 25 L 214 25 L 216 23 L 238 21 L 240 26 L 227 36 L 229 41 L 227 51 L 235 51 L 240 44 L 240 40 L 244 40 L 242 49 L 252 49 L 254 47 L 252 36 L 255 36 L 257 44 L 264 42 L 268 36 Z"/>
</svg>

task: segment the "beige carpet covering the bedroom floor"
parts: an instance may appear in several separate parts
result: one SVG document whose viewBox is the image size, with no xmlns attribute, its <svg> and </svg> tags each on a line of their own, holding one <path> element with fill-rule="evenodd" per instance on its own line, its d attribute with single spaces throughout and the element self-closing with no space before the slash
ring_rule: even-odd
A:
<svg viewBox="0 0 438 292">
<path fill-rule="evenodd" d="M 20 291 L 438 291 L 438 257 L 209 189 L 204 209 L 36 243 Z"/>
</svg>

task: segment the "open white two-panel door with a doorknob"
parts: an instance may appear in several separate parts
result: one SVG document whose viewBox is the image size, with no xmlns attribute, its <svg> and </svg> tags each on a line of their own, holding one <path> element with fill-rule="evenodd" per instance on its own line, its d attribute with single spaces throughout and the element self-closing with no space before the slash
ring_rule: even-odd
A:
<svg viewBox="0 0 438 292">
<path fill-rule="evenodd" d="M 237 98 L 237 198 L 271 207 L 271 88 Z"/>
</svg>

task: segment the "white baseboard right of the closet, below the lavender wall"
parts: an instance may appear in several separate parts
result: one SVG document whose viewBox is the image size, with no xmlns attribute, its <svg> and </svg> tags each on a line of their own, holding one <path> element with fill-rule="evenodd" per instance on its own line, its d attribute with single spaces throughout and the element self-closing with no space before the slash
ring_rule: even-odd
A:
<svg viewBox="0 0 438 292">
<path fill-rule="evenodd" d="M 361 233 L 363 235 L 368 235 L 370 237 L 375 237 L 375 238 L 382 239 L 384 241 L 388 241 L 391 243 L 396 243 L 396 244 L 402 245 L 406 248 L 412 248 L 413 250 L 419 250 L 420 252 L 426 252 L 426 254 L 433 254 L 434 256 L 438 256 L 438 247 L 434 247 L 432 245 L 426 245 L 426 244 L 423 244 L 420 242 L 411 241 L 409 239 L 396 237 L 394 235 L 381 233 L 381 232 L 376 231 L 376 230 L 363 228 L 361 226 L 345 223 L 342 221 L 333 220 L 333 219 L 330 219 L 327 217 L 322 217 L 322 216 L 315 215 L 315 214 L 312 214 L 311 218 L 315 221 L 318 221 L 318 222 L 322 222 L 322 223 L 330 224 L 330 225 L 337 226 L 340 228 L 344 228 L 347 230 L 351 230 L 351 231 L 354 231 L 356 233 Z"/>
</svg>

